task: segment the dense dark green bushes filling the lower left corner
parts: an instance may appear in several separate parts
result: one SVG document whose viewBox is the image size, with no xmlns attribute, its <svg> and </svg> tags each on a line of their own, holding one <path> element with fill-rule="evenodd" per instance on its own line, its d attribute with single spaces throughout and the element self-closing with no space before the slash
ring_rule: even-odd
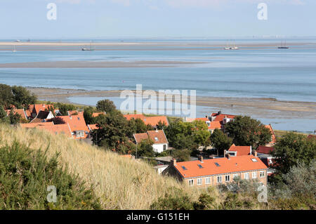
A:
<svg viewBox="0 0 316 224">
<path fill-rule="evenodd" d="M 58 154 L 33 151 L 14 142 L 0 148 L 0 209 L 99 209 L 98 199 L 78 176 L 62 169 Z M 47 187 L 57 189 L 57 202 L 47 201 Z"/>
</svg>

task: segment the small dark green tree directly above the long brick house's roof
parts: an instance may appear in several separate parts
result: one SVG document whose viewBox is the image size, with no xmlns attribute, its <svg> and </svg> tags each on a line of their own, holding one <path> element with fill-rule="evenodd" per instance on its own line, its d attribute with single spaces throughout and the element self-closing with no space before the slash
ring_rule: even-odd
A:
<svg viewBox="0 0 316 224">
<path fill-rule="evenodd" d="M 232 145 L 232 139 L 229 138 L 220 129 L 215 129 L 211 134 L 211 145 L 216 148 L 218 155 L 223 155 L 224 150 L 228 150 Z"/>
</svg>

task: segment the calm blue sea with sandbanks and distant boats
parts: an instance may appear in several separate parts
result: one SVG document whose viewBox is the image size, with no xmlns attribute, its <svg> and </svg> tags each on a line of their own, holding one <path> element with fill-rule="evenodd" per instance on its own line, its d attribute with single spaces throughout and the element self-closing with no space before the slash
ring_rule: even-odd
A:
<svg viewBox="0 0 316 224">
<path fill-rule="evenodd" d="M 77 40 L 81 41 L 81 40 Z M 95 42 L 102 40 L 95 40 Z M 103 40 L 104 41 L 104 40 Z M 116 42 L 117 40 L 110 40 Z M 271 46 L 241 48 L 223 51 L 222 48 L 204 48 L 202 44 L 226 45 L 223 39 L 126 39 L 125 42 L 158 43 L 156 46 L 102 46 L 105 51 L 80 51 L 81 47 L 67 47 L 68 51 L 49 51 L 34 47 L 30 51 L 12 52 L 11 46 L 0 50 L 0 63 L 40 61 L 196 61 L 199 65 L 152 68 L 85 68 L 85 69 L 37 69 L 1 68 L 0 83 L 21 86 L 75 88 L 86 90 L 143 89 L 196 90 L 197 95 L 276 98 L 316 102 L 316 39 L 287 39 L 289 49 Z M 118 41 L 119 42 L 119 41 Z M 238 44 L 279 43 L 279 39 L 237 39 Z M 180 43 L 176 47 L 166 43 Z M 201 46 L 190 47 L 190 44 Z M 98 46 L 96 46 L 98 49 Z M 121 49 L 119 49 L 121 48 Z M 6 49 L 8 51 L 6 51 Z M 20 46 L 20 50 L 27 47 Z M 41 51 L 37 51 L 41 50 Z M 74 51 L 78 50 L 78 51 Z M 121 50 L 121 51 L 119 51 Z M 81 98 L 89 104 L 85 98 Z M 267 121 L 269 122 L 269 121 Z M 277 125 L 282 121 L 275 121 Z M 271 122 L 273 123 L 273 122 Z M 278 126 L 279 127 L 279 126 Z M 308 126 L 281 126 L 281 129 L 313 131 L 316 122 Z"/>
</svg>

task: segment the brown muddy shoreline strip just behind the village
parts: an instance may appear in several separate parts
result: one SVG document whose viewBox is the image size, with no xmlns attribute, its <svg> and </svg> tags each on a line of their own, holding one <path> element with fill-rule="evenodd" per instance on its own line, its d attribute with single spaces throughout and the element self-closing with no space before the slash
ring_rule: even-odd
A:
<svg viewBox="0 0 316 224">
<path fill-rule="evenodd" d="M 68 99 L 70 97 L 119 98 L 121 93 L 119 90 L 87 91 L 69 88 L 25 87 L 36 94 L 39 100 L 60 103 L 72 103 Z M 223 113 L 266 119 L 316 119 L 316 103 L 314 102 L 282 101 L 274 98 L 197 96 L 196 105 L 210 107 L 210 112 L 222 110 Z"/>
</svg>

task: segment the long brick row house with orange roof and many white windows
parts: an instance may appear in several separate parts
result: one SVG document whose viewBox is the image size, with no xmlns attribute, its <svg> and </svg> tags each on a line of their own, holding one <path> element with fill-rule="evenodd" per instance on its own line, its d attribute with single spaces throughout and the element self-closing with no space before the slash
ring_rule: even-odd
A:
<svg viewBox="0 0 316 224">
<path fill-rule="evenodd" d="M 267 185 L 268 167 L 254 155 L 226 157 L 217 159 L 203 159 L 189 162 L 171 161 L 163 174 L 169 174 L 192 187 L 209 187 L 232 182 L 235 177 L 242 179 L 256 179 L 258 183 Z"/>
</svg>

